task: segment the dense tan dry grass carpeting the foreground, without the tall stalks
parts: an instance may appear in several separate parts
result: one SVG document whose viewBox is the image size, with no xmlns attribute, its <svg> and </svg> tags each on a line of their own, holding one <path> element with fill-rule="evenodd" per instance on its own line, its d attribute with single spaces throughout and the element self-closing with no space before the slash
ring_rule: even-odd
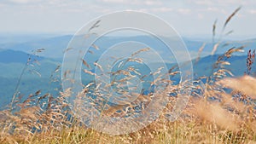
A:
<svg viewBox="0 0 256 144">
<path fill-rule="evenodd" d="M 225 54 L 226 55 L 226 54 Z M 222 60 L 222 59 L 218 59 Z M 219 65 L 223 63 L 216 62 Z M 255 78 L 225 78 L 218 69 L 209 77 L 207 84 L 195 85 L 201 93 L 190 99 L 188 107 L 175 122 L 169 122 L 165 114 L 172 111 L 176 98 L 170 97 L 170 103 L 160 118 L 143 130 L 127 135 L 107 135 L 86 128 L 77 118 L 68 118 L 71 113 L 65 97 L 71 89 L 61 92 L 58 97 L 41 94 L 36 91 L 26 101 L 16 104 L 16 111 L 0 112 L 0 143 L 253 143 L 256 142 L 255 102 L 244 103 L 232 95 L 247 95 L 255 99 Z M 225 71 L 224 71 L 225 72 Z M 211 83 L 210 83 L 211 82 Z M 89 91 L 91 84 L 84 87 L 82 93 Z M 222 86 L 229 87 L 226 93 Z M 178 91 L 178 85 L 168 87 L 170 93 Z M 243 94 L 238 94 L 237 90 Z M 146 97 L 146 99 L 145 99 Z M 218 101 L 207 101 L 216 97 Z M 79 98 L 79 96 L 78 96 Z M 19 99 L 19 98 L 17 98 Z M 250 101 L 252 101 L 250 99 Z M 249 101 L 248 99 L 246 99 Z M 139 95 L 137 101 L 151 101 L 147 95 Z M 35 105 L 36 103 L 36 105 Z M 44 107 L 44 109 L 42 109 Z M 131 105 L 127 106 L 131 107 Z M 103 113 L 113 117 L 124 117 L 117 111 L 125 108 L 109 107 Z"/>
</svg>

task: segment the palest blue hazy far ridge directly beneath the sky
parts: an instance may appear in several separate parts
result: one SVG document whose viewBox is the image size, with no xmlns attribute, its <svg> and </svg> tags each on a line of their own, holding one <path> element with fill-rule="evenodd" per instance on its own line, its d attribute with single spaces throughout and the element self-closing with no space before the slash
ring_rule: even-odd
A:
<svg viewBox="0 0 256 144">
<path fill-rule="evenodd" d="M 0 43 L 0 49 L 13 49 L 18 51 L 23 51 L 26 53 L 32 53 L 32 50 L 35 49 L 46 49 L 42 56 L 50 57 L 61 60 L 64 55 L 65 49 L 67 49 L 67 45 L 72 39 L 72 35 L 60 36 L 60 37 L 47 37 L 29 41 L 28 38 L 27 42 L 25 40 L 21 42 L 11 42 L 11 43 Z M 148 36 L 132 36 L 132 37 L 100 37 L 96 40 L 96 45 L 100 45 L 101 48 L 108 49 L 108 47 L 112 46 L 113 43 L 120 43 L 124 41 L 139 41 L 149 43 L 150 46 L 153 47 L 156 51 L 159 49 L 158 43 L 152 43 L 152 37 Z M 85 40 L 85 38 L 84 38 Z M 192 58 L 197 56 L 198 50 L 201 48 L 202 44 L 206 41 L 203 40 L 195 40 L 193 38 L 183 38 L 184 43 L 186 44 L 187 48 L 189 49 L 189 53 Z M 219 44 L 218 50 L 216 54 L 223 54 L 224 51 L 230 49 L 232 47 L 240 47 L 241 45 L 246 46 L 245 50 L 247 49 L 255 49 L 256 48 L 256 39 L 249 39 L 249 40 L 242 40 L 242 41 L 230 41 L 224 40 L 222 43 Z M 207 41 L 204 50 L 201 53 L 201 56 L 210 55 L 212 51 L 212 41 Z M 246 54 L 241 54 L 246 55 Z"/>
</svg>

